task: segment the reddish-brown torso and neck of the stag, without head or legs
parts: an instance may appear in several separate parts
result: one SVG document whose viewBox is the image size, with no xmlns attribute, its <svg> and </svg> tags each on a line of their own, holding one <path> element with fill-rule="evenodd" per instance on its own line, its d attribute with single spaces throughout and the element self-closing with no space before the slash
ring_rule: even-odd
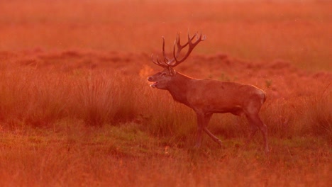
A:
<svg viewBox="0 0 332 187">
<path fill-rule="evenodd" d="M 157 77 L 149 77 L 149 80 L 157 80 Z M 178 72 L 167 86 L 160 89 L 170 91 L 175 101 L 203 113 L 241 115 L 243 110 L 250 110 L 248 107 L 253 101 L 261 104 L 265 101 L 265 92 L 255 86 L 215 79 L 194 79 Z"/>
</svg>

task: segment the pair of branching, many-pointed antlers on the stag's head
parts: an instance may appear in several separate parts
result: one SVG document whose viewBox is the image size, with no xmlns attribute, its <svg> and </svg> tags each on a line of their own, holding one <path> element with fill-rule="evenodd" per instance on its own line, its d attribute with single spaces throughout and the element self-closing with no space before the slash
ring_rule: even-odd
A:
<svg viewBox="0 0 332 187">
<path fill-rule="evenodd" d="M 194 40 L 194 38 L 197 38 L 196 42 L 192 43 L 192 40 Z M 170 59 L 169 57 L 166 56 L 165 54 L 165 38 L 162 36 L 162 57 L 163 57 L 163 60 L 164 62 L 160 62 L 158 56 L 156 58 L 157 61 L 153 60 L 153 55 L 151 55 L 151 59 L 153 61 L 153 63 L 157 64 L 158 66 L 161 66 L 161 67 L 176 67 L 178 64 L 180 64 L 181 62 L 184 62 L 184 60 L 187 59 L 187 57 L 189 57 L 190 53 L 192 52 L 192 50 L 194 50 L 194 47 L 196 47 L 196 45 L 201 42 L 201 41 L 204 41 L 206 39 L 206 36 L 203 35 L 203 38 L 202 38 L 202 35 L 200 34 L 199 36 L 197 35 L 197 33 L 195 33 L 192 38 L 190 38 L 190 35 L 188 33 L 188 42 L 185 43 L 184 45 L 181 45 L 180 44 L 180 39 L 179 39 L 179 33 L 177 33 L 177 38 L 174 42 L 174 47 L 173 47 L 173 58 Z M 177 52 L 175 54 L 175 45 L 177 45 Z M 181 50 L 184 48 L 184 47 L 187 47 L 187 45 L 189 45 L 189 49 L 187 51 L 187 54 L 184 55 L 184 57 L 182 58 L 182 60 L 177 60 L 177 57 L 179 57 L 179 54 L 181 52 Z M 175 62 L 175 63 L 173 63 Z"/>
</svg>

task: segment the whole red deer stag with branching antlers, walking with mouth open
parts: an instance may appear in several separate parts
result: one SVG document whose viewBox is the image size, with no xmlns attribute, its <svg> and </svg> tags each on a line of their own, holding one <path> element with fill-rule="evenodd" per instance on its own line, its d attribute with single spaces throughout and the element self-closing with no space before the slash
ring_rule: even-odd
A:
<svg viewBox="0 0 332 187">
<path fill-rule="evenodd" d="M 194 38 L 197 39 L 193 42 Z M 201 145 L 202 131 L 206 132 L 214 142 L 221 145 L 221 140 L 213 135 L 206 126 L 213 113 L 232 113 L 234 115 L 245 115 L 248 118 L 251 132 L 247 145 L 253 138 L 253 135 L 255 135 L 255 132 L 260 129 L 264 138 L 265 152 L 269 152 L 267 127 L 262 123 L 258 115 L 266 99 L 264 91 L 247 84 L 217 81 L 214 79 L 194 79 L 175 72 L 173 69 L 181 62 L 184 62 L 192 50 L 194 50 L 194 47 L 205 39 L 205 35 L 202 37 L 202 35 L 196 33 L 190 38 L 188 34 L 188 42 L 181 45 L 179 33 L 177 33 L 173 47 L 173 57 L 171 59 L 165 55 L 165 39 L 162 37 L 163 60 L 159 60 L 157 57 L 155 61 L 153 55 L 151 55 L 151 59 L 153 63 L 163 67 L 164 70 L 148 77 L 148 81 L 153 82 L 150 86 L 170 91 L 175 101 L 184 103 L 184 105 L 189 106 L 197 113 L 198 130 L 195 147 L 200 147 Z M 181 50 L 187 46 L 187 54 L 182 59 L 178 59 Z M 177 52 L 175 52 L 176 47 Z"/>
</svg>

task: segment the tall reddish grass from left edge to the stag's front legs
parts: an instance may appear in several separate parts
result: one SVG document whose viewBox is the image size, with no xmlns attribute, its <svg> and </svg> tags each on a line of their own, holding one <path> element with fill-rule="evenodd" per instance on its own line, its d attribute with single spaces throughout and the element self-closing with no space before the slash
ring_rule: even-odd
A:
<svg viewBox="0 0 332 187">
<path fill-rule="evenodd" d="M 0 120 L 7 127 L 49 128 L 77 119 L 93 126 L 135 122 L 155 135 L 174 135 L 181 131 L 177 127 L 187 131 L 192 123 L 189 110 L 167 93 L 153 91 L 141 77 L 118 72 L 10 67 L 1 69 L 0 88 Z"/>
</svg>

